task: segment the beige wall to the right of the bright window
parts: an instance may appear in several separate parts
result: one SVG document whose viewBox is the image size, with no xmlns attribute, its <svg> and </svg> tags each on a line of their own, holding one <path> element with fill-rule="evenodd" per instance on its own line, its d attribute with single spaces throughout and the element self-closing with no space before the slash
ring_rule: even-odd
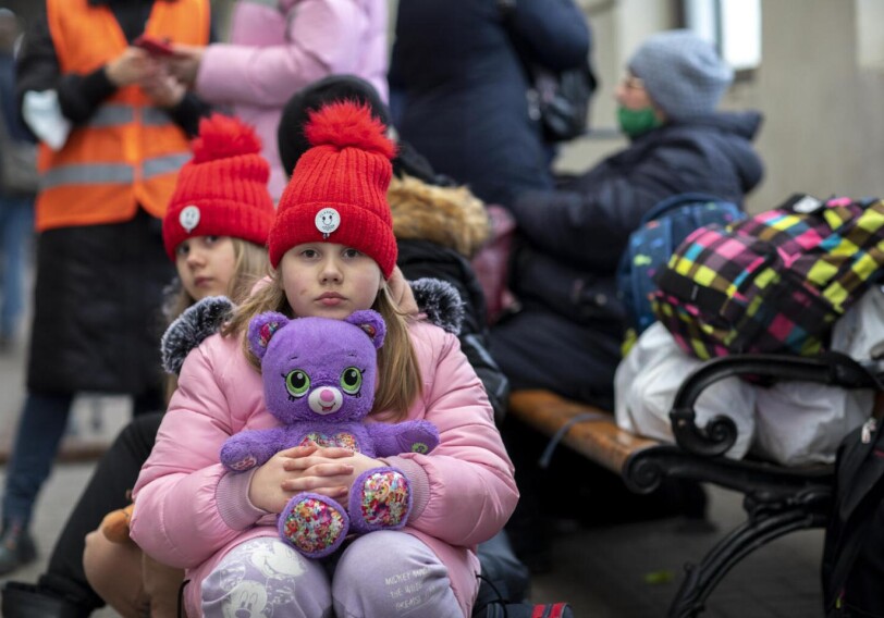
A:
<svg viewBox="0 0 884 618">
<path fill-rule="evenodd" d="M 763 59 L 751 95 L 766 118 L 759 147 L 768 178 L 756 203 L 796 189 L 884 194 L 884 59 L 861 62 L 859 36 L 875 9 L 845 0 L 764 2 Z"/>
</svg>

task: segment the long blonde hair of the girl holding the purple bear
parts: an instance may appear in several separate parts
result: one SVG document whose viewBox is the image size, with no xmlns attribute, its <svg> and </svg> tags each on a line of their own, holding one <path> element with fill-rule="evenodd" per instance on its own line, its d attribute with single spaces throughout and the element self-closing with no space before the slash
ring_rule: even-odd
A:
<svg viewBox="0 0 884 618">
<path fill-rule="evenodd" d="M 422 392 L 420 368 L 408 334 L 408 318 L 393 301 L 385 284 L 371 308 L 378 311 L 386 323 L 386 336 L 383 346 L 378 350 L 379 384 L 370 415 L 382 420 L 402 420 Z M 222 334 L 229 336 L 246 333 L 249 321 L 265 311 L 277 311 L 288 318 L 295 318 L 282 287 L 280 270 L 272 272 L 268 285 L 257 289 L 240 305 L 233 318 L 224 324 Z M 243 353 L 248 362 L 260 372 L 261 362 L 251 353 L 246 336 L 243 337 Z"/>
</svg>

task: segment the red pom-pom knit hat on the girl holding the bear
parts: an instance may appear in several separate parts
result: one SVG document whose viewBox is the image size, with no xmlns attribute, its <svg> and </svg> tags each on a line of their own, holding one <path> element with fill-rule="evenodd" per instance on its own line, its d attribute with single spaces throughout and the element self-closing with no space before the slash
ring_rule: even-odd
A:
<svg viewBox="0 0 884 618">
<path fill-rule="evenodd" d="M 396 147 L 371 110 L 353 101 L 310 113 L 307 150 L 280 199 L 270 230 L 270 263 L 303 243 L 337 243 L 371 257 L 389 277 L 396 238 L 386 201 Z"/>
</svg>

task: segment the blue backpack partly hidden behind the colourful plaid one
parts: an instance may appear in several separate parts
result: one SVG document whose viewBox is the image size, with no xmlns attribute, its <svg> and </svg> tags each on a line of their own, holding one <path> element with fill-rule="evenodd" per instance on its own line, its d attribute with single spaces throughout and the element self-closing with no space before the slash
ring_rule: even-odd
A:
<svg viewBox="0 0 884 618">
<path fill-rule="evenodd" d="M 644 213 L 629 235 L 617 268 L 617 296 L 626 311 L 624 354 L 656 321 L 651 310 L 651 294 L 656 289 L 653 277 L 675 248 L 698 227 L 745 218 L 738 205 L 702 193 L 671 196 Z"/>
</svg>

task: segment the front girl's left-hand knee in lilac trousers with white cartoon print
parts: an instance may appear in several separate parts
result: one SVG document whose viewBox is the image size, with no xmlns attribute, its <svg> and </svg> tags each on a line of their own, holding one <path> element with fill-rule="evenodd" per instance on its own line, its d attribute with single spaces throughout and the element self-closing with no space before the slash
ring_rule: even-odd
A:
<svg viewBox="0 0 884 618">
<path fill-rule="evenodd" d="M 202 613 L 212 616 L 315 617 L 330 615 L 322 568 L 278 539 L 234 548 L 202 581 Z"/>
</svg>

